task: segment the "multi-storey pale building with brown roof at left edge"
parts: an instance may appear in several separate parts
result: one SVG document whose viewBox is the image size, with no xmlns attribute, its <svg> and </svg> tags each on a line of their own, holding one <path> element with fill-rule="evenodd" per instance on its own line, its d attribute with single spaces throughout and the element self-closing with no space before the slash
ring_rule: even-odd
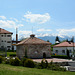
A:
<svg viewBox="0 0 75 75">
<path fill-rule="evenodd" d="M 0 48 L 12 50 L 12 32 L 0 28 Z"/>
</svg>

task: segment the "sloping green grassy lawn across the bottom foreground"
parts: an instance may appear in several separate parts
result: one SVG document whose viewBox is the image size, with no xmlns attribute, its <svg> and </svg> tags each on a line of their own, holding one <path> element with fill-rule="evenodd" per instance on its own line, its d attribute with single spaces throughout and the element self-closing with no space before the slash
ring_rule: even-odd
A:
<svg viewBox="0 0 75 75">
<path fill-rule="evenodd" d="M 75 72 L 51 71 L 0 64 L 0 75 L 75 75 Z"/>
</svg>

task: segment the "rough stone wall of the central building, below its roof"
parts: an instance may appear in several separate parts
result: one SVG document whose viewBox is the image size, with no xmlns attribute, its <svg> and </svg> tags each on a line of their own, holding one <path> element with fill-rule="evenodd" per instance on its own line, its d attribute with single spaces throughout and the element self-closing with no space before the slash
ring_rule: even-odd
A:
<svg viewBox="0 0 75 75">
<path fill-rule="evenodd" d="M 17 56 L 22 58 L 25 56 L 25 50 L 27 49 L 28 58 L 43 58 L 43 54 L 46 54 L 46 58 L 50 57 L 50 45 L 21 45 L 17 46 Z"/>
</svg>

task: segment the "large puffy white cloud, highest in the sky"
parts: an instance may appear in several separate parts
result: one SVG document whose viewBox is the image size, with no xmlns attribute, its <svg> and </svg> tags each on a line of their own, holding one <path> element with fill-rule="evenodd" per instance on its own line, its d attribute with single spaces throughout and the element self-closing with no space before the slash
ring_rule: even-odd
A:
<svg viewBox="0 0 75 75">
<path fill-rule="evenodd" d="M 26 18 L 27 22 L 31 23 L 38 23 L 38 24 L 43 24 L 47 21 L 50 20 L 50 15 L 49 13 L 45 14 L 32 14 L 31 12 L 27 12 L 24 17 Z"/>
</svg>

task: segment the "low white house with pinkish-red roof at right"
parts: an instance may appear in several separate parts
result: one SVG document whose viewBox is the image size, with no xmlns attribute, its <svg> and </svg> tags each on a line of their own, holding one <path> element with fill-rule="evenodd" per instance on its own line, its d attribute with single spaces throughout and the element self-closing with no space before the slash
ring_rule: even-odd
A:
<svg viewBox="0 0 75 75">
<path fill-rule="evenodd" d="M 72 56 L 75 49 L 75 43 L 73 42 L 62 42 L 53 46 L 53 53 L 56 55 L 67 55 Z"/>
</svg>

